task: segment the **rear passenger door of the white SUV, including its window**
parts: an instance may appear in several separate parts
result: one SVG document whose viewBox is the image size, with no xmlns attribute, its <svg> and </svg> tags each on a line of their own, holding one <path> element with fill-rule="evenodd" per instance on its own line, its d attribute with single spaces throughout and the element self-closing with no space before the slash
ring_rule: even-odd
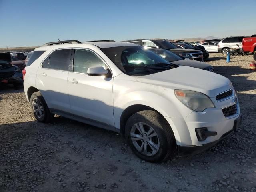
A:
<svg viewBox="0 0 256 192">
<path fill-rule="evenodd" d="M 36 86 L 52 111 L 70 111 L 68 71 L 71 49 L 53 51 L 38 68 Z"/>
</svg>

